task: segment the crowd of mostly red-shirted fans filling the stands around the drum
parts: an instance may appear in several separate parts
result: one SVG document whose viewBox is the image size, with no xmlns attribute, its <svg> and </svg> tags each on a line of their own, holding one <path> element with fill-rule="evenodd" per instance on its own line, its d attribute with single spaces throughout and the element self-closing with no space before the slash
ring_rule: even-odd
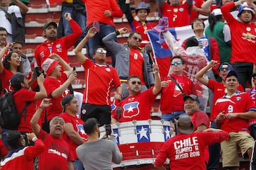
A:
<svg viewBox="0 0 256 170">
<path fill-rule="evenodd" d="M 16 130 L 1 129 L 1 169 L 112 169 L 122 154 L 113 134 L 99 138 L 99 127 L 151 119 L 159 94 L 161 119 L 176 123 L 176 137 L 159 148 L 156 169 L 165 169 L 166 158 L 171 169 L 219 169 L 220 156 L 224 169 L 239 169 L 238 147 L 256 168 L 252 0 L 156 0 L 157 8 L 150 1 L 159 25 L 146 20 L 143 1 L 135 1 L 135 16 L 127 0 L 63 1 L 59 24 L 43 26 L 46 40 L 33 59 L 22 53 L 28 4 L 0 0 L 0 96 L 14 91 L 17 112 L 26 108 Z M 114 18 L 123 14 L 130 28 L 116 30 Z M 181 43 L 169 31 L 189 25 L 194 35 Z M 149 30 L 173 55 L 164 76 L 149 50 Z M 124 44 L 117 42 L 122 34 L 129 34 Z M 73 46 L 85 69 L 83 94 L 72 87 L 78 76 L 68 64 Z"/>
</svg>

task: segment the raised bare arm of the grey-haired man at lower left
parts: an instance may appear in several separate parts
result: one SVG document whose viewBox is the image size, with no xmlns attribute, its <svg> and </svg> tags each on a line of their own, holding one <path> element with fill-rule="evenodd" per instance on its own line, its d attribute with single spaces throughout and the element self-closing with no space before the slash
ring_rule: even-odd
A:
<svg viewBox="0 0 256 170">
<path fill-rule="evenodd" d="M 31 118 L 31 128 L 36 136 L 39 135 L 39 132 L 41 130 L 41 126 L 38 125 L 38 120 L 41 118 L 41 113 L 43 113 L 44 109 L 49 107 L 50 105 L 52 105 L 52 103 L 50 103 L 50 98 L 43 98 L 43 101 L 41 101 L 40 106 L 36 109 L 36 112 Z"/>
</svg>

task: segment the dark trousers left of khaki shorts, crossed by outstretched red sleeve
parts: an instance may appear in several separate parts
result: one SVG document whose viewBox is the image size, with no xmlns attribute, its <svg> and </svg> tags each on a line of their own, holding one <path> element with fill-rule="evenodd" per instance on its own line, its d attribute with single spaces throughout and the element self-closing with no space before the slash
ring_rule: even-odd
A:
<svg viewBox="0 0 256 170">
<path fill-rule="evenodd" d="M 219 129 L 215 122 L 210 123 L 210 128 Z M 209 145 L 209 162 L 207 164 L 207 169 L 219 169 L 220 164 L 220 143 L 215 143 Z"/>
</svg>

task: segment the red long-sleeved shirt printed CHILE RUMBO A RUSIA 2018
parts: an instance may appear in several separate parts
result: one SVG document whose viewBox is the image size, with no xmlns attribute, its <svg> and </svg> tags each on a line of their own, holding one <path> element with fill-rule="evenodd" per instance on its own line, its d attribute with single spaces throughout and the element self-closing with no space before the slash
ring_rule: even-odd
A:
<svg viewBox="0 0 256 170">
<path fill-rule="evenodd" d="M 166 158 L 170 159 L 171 170 L 203 170 L 206 169 L 204 150 L 215 142 L 228 138 L 228 133 L 193 132 L 188 135 L 178 134 L 167 140 L 156 157 L 155 165 L 162 166 Z"/>
</svg>

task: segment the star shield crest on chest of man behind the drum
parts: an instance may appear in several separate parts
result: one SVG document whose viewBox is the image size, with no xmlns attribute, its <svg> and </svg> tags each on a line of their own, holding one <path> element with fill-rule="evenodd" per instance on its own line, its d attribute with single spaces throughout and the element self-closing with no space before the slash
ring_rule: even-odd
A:
<svg viewBox="0 0 256 170">
<path fill-rule="evenodd" d="M 123 109 L 123 117 L 124 118 L 132 118 L 134 116 L 139 115 L 139 102 L 134 101 L 131 103 L 124 104 Z"/>
</svg>

